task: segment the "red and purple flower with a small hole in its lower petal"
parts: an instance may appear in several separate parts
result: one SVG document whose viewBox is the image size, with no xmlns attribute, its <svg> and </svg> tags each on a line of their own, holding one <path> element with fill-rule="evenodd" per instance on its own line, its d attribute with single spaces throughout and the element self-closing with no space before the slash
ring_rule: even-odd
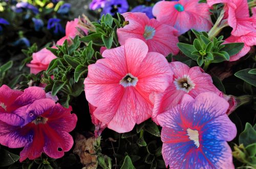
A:
<svg viewBox="0 0 256 169">
<path fill-rule="evenodd" d="M 13 126 L 0 121 L 0 143 L 9 148 L 25 147 L 20 152 L 20 162 L 38 158 L 41 153 L 60 158 L 74 143 L 69 132 L 75 128 L 77 117 L 71 110 L 48 98 L 36 100 L 16 110 L 27 122 L 25 125 Z"/>
</svg>

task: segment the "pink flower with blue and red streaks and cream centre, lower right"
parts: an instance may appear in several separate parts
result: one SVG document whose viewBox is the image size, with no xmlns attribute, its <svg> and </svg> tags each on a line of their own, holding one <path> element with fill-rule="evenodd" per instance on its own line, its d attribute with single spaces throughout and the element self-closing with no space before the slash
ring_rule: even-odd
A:
<svg viewBox="0 0 256 169">
<path fill-rule="evenodd" d="M 226 115 L 228 102 L 214 93 L 195 99 L 185 95 L 181 104 L 158 115 L 163 127 L 162 155 L 170 168 L 234 168 L 227 141 L 237 134 Z"/>
</svg>

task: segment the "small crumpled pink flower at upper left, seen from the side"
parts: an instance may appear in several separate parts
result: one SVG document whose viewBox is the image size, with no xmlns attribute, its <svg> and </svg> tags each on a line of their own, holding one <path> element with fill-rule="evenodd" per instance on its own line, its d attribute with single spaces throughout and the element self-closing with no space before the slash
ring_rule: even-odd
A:
<svg viewBox="0 0 256 169">
<path fill-rule="evenodd" d="M 69 42 L 71 42 L 70 38 L 74 39 L 75 36 L 79 35 L 78 29 L 83 31 L 85 34 L 88 34 L 88 30 L 79 26 L 78 22 L 79 22 L 78 18 L 75 18 L 74 20 L 67 22 L 67 24 L 66 24 L 66 36 L 61 38 L 60 40 L 58 40 L 57 43 L 56 43 L 57 45 L 62 45 L 66 39 Z"/>
</svg>

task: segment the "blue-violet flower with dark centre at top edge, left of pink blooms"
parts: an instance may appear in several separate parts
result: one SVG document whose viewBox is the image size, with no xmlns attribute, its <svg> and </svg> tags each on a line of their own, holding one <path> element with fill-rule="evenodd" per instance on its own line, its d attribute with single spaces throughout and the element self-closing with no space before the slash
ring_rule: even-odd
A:
<svg viewBox="0 0 256 169">
<path fill-rule="evenodd" d="M 115 15 L 117 12 L 124 13 L 129 9 L 129 5 L 126 0 L 110 0 L 106 2 L 101 15 L 103 14 L 111 14 Z"/>
</svg>

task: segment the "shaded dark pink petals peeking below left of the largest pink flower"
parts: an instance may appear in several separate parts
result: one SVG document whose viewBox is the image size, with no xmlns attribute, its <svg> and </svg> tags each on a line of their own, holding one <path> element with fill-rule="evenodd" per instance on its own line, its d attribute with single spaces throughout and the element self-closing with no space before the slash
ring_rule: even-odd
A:
<svg viewBox="0 0 256 169">
<path fill-rule="evenodd" d="M 97 107 L 89 103 L 89 110 L 90 110 L 92 123 L 95 125 L 94 135 L 95 137 L 98 137 L 99 135 L 101 135 L 101 132 L 106 128 L 106 124 L 103 124 L 94 116 L 94 111 L 96 110 L 96 108 Z"/>
</svg>

